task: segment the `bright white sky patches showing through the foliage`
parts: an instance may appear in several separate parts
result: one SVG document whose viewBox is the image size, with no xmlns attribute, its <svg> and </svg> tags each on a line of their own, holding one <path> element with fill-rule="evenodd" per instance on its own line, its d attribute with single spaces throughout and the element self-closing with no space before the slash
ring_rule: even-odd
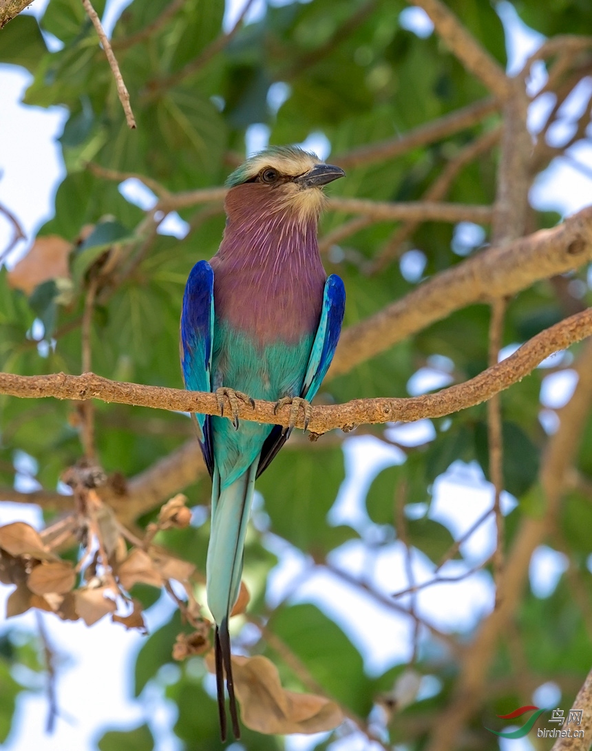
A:
<svg viewBox="0 0 592 751">
<path fill-rule="evenodd" d="M 46 0 L 35 0 L 29 11 L 41 14 Z M 122 8 L 127 2 L 109 0 L 104 15 L 104 25 L 113 28 Z M 232 26 L 240 13 L 243 0 L 230 0 L 227 4 L 225 27 Z M 500 17 L 506 26 L 509 48 L 509 72 L 521 68 L 524 60 L 542 43 L 541 35 L 536 34 L 518 19 L 512 5 L 502 2 L 498 6 Z M 249 11 L 247 20 L 255 20 L 264 12 L 263 0 L 258 0 Z M 401 23 L 419 36 L 432 33 L 430 20 L 418 8 L 407 8 L 401 14 Z M 49 40 L 48 43 L 52 43 Z M 39 107 L 23 107 L 20 99 L 32 77 L 23 68 L 0 65 L 0 204 L 7 206 L 20 220 L 26 233 L 26 240 L 20 242 L 8 265 L 17 261 L 29 248 L 36 228 L 53 214 L 53 197 L 57 185 L 65 174 L 59 144 L 56 138 L 62 132 L 67 115 L 62 107 L 44 110 Z M 530 81 L 530 89 L 536 92 L 545 80 L 542 66 L 536 69 Z M 579 92 L 570 98 L 562 108 L 561 122 L 554 137 L 564 138 L 578 116 L 584 82 Z M 279 107 L 287 95 L 285 84 L 276 84 L 270 92 L 270 104 Z M 533 132 L 542 122 L 549 102 L 541 98 L 530 108 L 529 124 Z M 269 130 L 265 125 L 253 125 L 246 136 L 247 152 L 254 152 L 267 145 Z M 10 148 L 5 144 L 10 143 Z M 325 158 L 331 144 L 322 133 L 311 133 L 305 145 L 319 152 Z M 590 170 L 590 171 L 586 171 Z M 557 159 L 539 179 L 531 191 L 531 201 L 538 209 L 556 210 L 567 216 L 592 204 L 592 146 L 578 146 L 570 149 L 569 158 Z M 150 207 L 154 197 L 143 186 L 134 181 L 126 181 L 122 192 L 130 201 L 143 207 Z M 458 228 L 455 241 L 458 252 L 479 244 L 479 229 L 475 225 Z M 178 217 L 171 217 L 163 228 L 170 234 L 183 236 L 184 223 Z M 0 250 L 7 246 L 11 238 L 11 227 L 0 216 Z M 421 276 L 422 254 L 411 251 L 402 259 L 402 273 L 407 278 Z M 590 278 L 592 284 L 592 278 Z M 515 348 L 510 346 L 503 356 Z M 566 355 L 569 362 L 569 354 Z M 554 364 L 557 360 L 554 360 Z M 451 375 L 446 357 L 433 358 L 428 366 L 418 371 L 408 385 L 409 394 L 421 394 L 432 388 L 439 388 L 450 382 Z M 554 409 L 569 399 L 575 388 L 575 374 L 567 369 L 548 375 L 541 391 L 541 422 L 545 430 L 552 432 L 557 427 Z M 433 434 L 430 421 L 417 424 L 394 426 L 391 436 L 403 445 L 417 445 Z M 400 450 L 389 447 L 371 436 L 358 436 L 349 439 L 345 446 L 347 476 L 340 489 L 334 508 L 329 514 L 329 523 L 349 523 L 361 532 L 364 538 L 372 534 L 367 514 L 359 499 L 361 491 L 372 481 L 380 469 L 403 461 Z M 21 457 L 26 464 L 26 457 Z M 33 466 L 32 469 L 35 469 Z M 32 487 L 31 481 L 21 476 L 17 479 L 20 488 Z M 27 485 L 29 482 L 29 485 Z M 33 483 L 34 485 L 34 483 Z M 491 508 L 492 488 L 476 466 L 455 463 L 445 475 L 437 479 L 433 488 L 433 502 L 430 517 L 439 520 L 451 529 L 455 537 L 463 534 L 471 524 L 488 508 Z M 503 497 L 503 509 L 507 513 L 515 500 L 507 494 Z M 421 509 L 418 509 L 421 511 Z M 41 526 L 41 514 L 32 507 L 17 504 L 3 504 L 0 509 L 0 523 L 25 520 L 34 526 Z M 280 562 L 270 576 L 268 599 L 270 604 L 282 599 L 291 584 L 297 581 L 307 560 L 298 550 L 294 550 L 277 538 L 270 537 L 269 547 L 279 555 Z M 464 566 L 474 566 L 485 560 L 494 544 L 494 525 L 485 523 L 467 543 L 463 553 L 466 562 L 449 562 L 446 573 L 454 575 L 464 570 Z M 403 589 L 406 579 L 403 571 L 403 550 L 399 543 L 380 548 L 376 553 L 376 586 L 384 593 Z M 363 545 L 351 541 L 334 551 L 333 566 L 340 566 L 355 573 L 367 563 Z M 550 547 L 541 546 L 536 550 L 530 566 L 530 583 L 537 596 L 549 596 L 557 586 L 565 569 L 564 556 Z M 415 553 L 413 569 L 418 581 L 430 578 L 432 567 L 421 553 Z M 8 594 L 6 588 L 0 591 L 0 599 Z M 419 606 L 426 617 L 442 629 L 455 629 L 459 626 L 468 629 L 474 626 L 483 614 L 491 610 L 494 590 L 491 578 L 485 572 L 455 584 L 443 584 L 422 590 Z M 380 674 L 389 666 L 408 659 L 410 654 L 409 622 L 388 608 L 376 605 L 363 593 L 352 591 L 328 572 L 319 571 L 313 578 L 298 587 L 294 602 L 313 602 L 325 610 L 360 650 L 364 657 L 367 674 Z M 0 612 L 2 612 L 0 603 Z M 161 599 L 147 612 L 149 630 L 157 629 L 165 623 L 172 612 L 172 605 Z M 87 629 L 82 623 L 61 623 L 51 617 L 44 617 L 50 641 L 58 656 L 59 677 L 57 683 L 59 705 L 63 714 L 57 722 L 56 733 L 44 733 L 47 713 L 47 698 L 43 686 L 35 684 L 34 677 L 20 675 L 29 681 L 31 691 L 20 695 L 17 719 L 14 730 L 5 745 L 6 751 L 91 751 L 96 748 L 96 740 L 109 727 L 130 728 L 141 722 L 149 722 L 156 736 L 157 751 L 177 751 L 180 743 L 170 732 L 174 724 L 174 707 L 162 698 L 155 686 L 147 687 L 139 701 L 131 701 L 131 666 L 143 638 L 136 632 L 125 632 L 105 620 Z M 35 631 L 35 617 L 25 614 L 18 623 L 23 633 Z M 372 632 L 367 624 L 372 624 Z M 0 629 L 2 625 L 0 624 Z M 27 685 L 29 685 L 29 683 Z M 209 688 L 213 690 L 210 683 Z M 439 689 L 434 677 L 426 677 L 421 684 L 420 695 L 427 696 Z M 539 706 L 557 706 L 560 692 L 557 686 L 545 684 L 533 695 L 533 702 Z M 288 739 L 288 751 L 305 751 L 318 742 L 316 737 L 294 736 Z M 510 746 L 500 740 L 501 751 L 510 751 Z M 512 751 L 531 749 L 527 739 L 512 742 Z M 341 739 L 333 744 L 331 751 L 357 751 L 367 748 L 364 739 L 357 735 Z"/>
</svg>

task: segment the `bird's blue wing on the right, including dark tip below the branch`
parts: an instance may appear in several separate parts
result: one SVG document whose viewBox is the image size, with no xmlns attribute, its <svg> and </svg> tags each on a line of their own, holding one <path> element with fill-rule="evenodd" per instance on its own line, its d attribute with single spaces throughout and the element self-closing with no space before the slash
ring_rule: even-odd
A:
<svg viewBox="0 0 592 751">
<path fill-rule="evenodd" d="M 327 375 L 331 360 L 335 354 L 335 348 L 341 333 L 343 313 L 346 309 L 346 289 L 343 282 L 336 274 L 331 274 L 325 282 L 323 294 L 323 306 L 319 328 L 316 331 L 313 349 L 310 351 L 307 373 L 304 376 L 300 396 L 311 400 L 321 385 L 322 379 Z M 273 457 L 289 438 L 291 431 L 284 432 L 281 425 L 275 425 L 267 436 L 261 450 L 257 477 L 270 465 Z"/>
</svg>

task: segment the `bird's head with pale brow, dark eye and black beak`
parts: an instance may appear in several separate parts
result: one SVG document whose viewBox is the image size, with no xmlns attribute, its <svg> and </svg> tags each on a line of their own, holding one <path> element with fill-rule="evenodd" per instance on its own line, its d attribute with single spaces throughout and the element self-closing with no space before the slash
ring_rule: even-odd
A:
<svg viewBox="0 0 592 751">
<path fill-rule="evenodd" d="M 317 218 L 325 195 L 322 187 L 343 177 L 340 167 L 324 164 L 298 146 L 270 146 L 248 158 L 228 177 L 228 216 L 249 210 L 292 214 L 301 222 Z"/>
</svg>

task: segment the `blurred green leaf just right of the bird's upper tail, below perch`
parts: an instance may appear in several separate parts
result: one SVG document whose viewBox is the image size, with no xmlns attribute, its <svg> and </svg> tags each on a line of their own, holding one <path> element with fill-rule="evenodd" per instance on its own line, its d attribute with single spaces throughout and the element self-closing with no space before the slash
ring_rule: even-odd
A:
<svg viewBox="0 0 592 751">
<path fill-rule="evenodd" d="M 270 531 L 319 556 L 355 537 L 353 529 L 327 523 L 344 478 L 343 452 L 338 447 L 280 452 L 257 484 L 270 516 Z"/>
</svg>

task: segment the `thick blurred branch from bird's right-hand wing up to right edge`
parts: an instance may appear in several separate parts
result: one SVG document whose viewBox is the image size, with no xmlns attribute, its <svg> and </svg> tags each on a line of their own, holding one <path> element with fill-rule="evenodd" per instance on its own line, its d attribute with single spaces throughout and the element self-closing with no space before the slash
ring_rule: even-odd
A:
<svg viewBox="0 0 592 751">
<path fill-rule="evenodd" d="M 328 378 L 349 372 L 455 310 L 515 294 L 587 261 L 592 261 L 592 207 L 553 229 L 485 249 L 350 326 L 342 333 Z"/>
</svg>

